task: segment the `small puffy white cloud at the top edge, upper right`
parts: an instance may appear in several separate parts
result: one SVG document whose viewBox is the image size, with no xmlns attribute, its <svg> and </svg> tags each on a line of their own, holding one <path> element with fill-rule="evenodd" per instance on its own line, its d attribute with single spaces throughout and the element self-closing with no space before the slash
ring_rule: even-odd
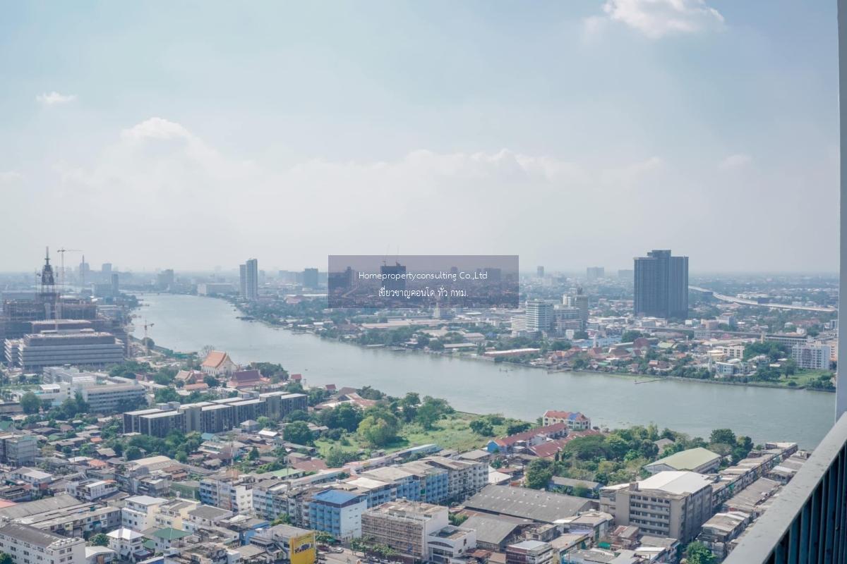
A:
<svg viewBox="0 0 847 564">
<path fill-rule="evenodd" d="M 638 30 L 650 39 L 721 29 L 723 16 L 705 0 L 606 0 L 606 18 Z M 596 17 L 585 20 L 586 31 L 598 27 Z"/>
</svg>

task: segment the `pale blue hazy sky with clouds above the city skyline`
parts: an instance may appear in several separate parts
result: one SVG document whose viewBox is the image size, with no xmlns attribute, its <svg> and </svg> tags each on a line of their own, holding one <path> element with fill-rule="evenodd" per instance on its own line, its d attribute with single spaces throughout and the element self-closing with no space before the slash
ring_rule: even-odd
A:
<svg viewBox="0 0 847 564">
<path fill-rule="evenodd" d="M 837 40 L 830 0 L 8 3 L 0 271 L 835 271 Z"/>
</svg>

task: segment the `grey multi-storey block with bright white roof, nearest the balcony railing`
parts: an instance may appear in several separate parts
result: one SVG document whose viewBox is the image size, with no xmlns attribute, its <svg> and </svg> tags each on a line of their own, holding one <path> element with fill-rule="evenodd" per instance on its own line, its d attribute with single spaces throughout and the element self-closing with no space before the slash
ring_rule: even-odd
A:
<svg viewBox="0 0 847 564">
<path fill-rule="evenodd" d="M 612 514 L 617 525 L 686 544 L 712 515 L 711 484 L 696 472 L 659 472 L 601 489 L 600 510 Z"/>
</svg>

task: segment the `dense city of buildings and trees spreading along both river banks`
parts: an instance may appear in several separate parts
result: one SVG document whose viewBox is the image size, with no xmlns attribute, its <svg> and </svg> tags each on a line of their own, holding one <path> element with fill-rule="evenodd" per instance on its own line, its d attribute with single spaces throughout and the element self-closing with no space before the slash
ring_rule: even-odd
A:
<svg viewBox="0 0 847 564">
<path fill-rule="evenodd" d="M 721 561 L 826 432 L 711 419 L 692 434 L 662 410 L 617 426 L 614 402 L 583 411 L 567 394 L 532 397 L 529 417 L 466 411 L 415 379 L 389 393 L 227 342 L 185 350 L 160 327 L 186 314 L 158 300 L 457 376 L 613 377 L 630 394 L 681 382 L 689 397 L 706 385 L 833 409 L 835 277 L 689 278 L 689 257 L 653 249 L 614 273 L 537 266 L 511 309 L 349 309 L 328 307 L 318 267 L 142 273 L 59 251 L 63 266 L 46 249 L 37 280 L 3 290 L 10 546 L 104 562 Z"/>
</svg>

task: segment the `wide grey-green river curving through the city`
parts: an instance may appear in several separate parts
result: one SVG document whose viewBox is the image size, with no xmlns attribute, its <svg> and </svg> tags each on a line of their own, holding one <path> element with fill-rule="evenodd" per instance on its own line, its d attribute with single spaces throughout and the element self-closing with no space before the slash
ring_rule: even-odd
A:
<svg viewBox="0 0 847 564">
<path fill-rule="evenodd" d="M 406 392 L 443 397 L 459 410 L 504 413 L 534 421 L 546 409 L 581 411 L 593 424 L 617 427 L 657 424 L 708 437 L 728 427 L 756 442 L 797 441 L 816 446 L 833 424 L 835 394 L 778 388 L 720 386 L 696 381 L 634 384 L 632 376 L 594 373 L 547 374 L 424 353 L 360 348 L 294 334 L 238 319 L 231 304 L 216 298 L 144 294 L 137 310 L 153 326 L 149 336 L 180 352 L 207 345 L 237 363 L 280 363 L 302 373 L 307 384 L 373 386 L 394 396 Z M 143 337 L 143 321 L 136 337 Z"/>
</svg>

